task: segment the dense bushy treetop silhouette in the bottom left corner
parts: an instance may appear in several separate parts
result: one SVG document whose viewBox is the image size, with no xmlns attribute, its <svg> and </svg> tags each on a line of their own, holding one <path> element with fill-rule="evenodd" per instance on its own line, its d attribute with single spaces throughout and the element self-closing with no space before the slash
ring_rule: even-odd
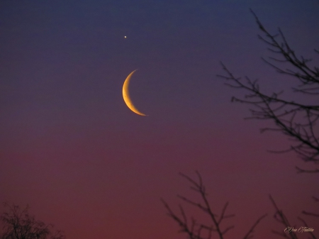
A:
<svg viewBox="0 0 319 239">
<path fill-rule="evenodd" d="M 61 230 L 52 232 L 52 224 L 35 220 L 28 213 L 28 206 L 21 209 L 15 204 L 4 204 L 9 211 L 4 212 L 0 219 L 3 224 L 1 239 L 64 239 Z"/>
</svg>

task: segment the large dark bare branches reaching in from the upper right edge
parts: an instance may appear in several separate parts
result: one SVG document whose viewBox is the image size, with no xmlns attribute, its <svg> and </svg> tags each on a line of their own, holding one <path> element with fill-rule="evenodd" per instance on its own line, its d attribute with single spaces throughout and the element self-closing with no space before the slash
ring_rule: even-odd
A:
<svg viewBox="0 0 319 239">
<path fill-rule="evenodd" d="M 279 74 L 298 79 L 298 85 L 292 90 L 298 94 L 299 99 L 300 96 L 308 95 L 316 97 L 315 99 L 319 102 L 319 67 L 310 67 L 310 59 L 298 57 L 289 46 L 280 28 L 279 33 L 270 34 L 256 14 L 252 10 L 251 12 L 263 34 L 263 36 L 258 35 L 258 38 L 267 45 L 270 52 L 278 56 L 269 57 L 269 60 L 262 58 L 262 60 Z M 315 52 L 319 53 L 318 50 Z M 281 67 L 281 64 L 284 66 Z M 283 91 L 265 94 L 260 89 L 257 80 L 245 77 L 246 82 L 244 82 L 240 77 L 235 77 L 223 63 L 221 65 L 225 75 L 218 75 L 218 77 L 226 79 L 228 82 L 225 84 L 228 86 L 246 91 L 242 99 L 233 97 L 232 101 L 254 106 L 254 109 L 250 109 L 252 116 L 248 118 L 266 119 L 275 123 L 274 128 L 262 128 L 261 132 L 279 131 L 293 141 L 288 150 L 279 152 L 294 151 L 304 162 L 313 163 L 311 169 L 296 167 L 298 172 L 319 172 L 317 166 L 319 164 L 319 130 L 316 125 L 319 118 L 319 104 L 306 105 L 301 103 L 302 101 L 281 98 Z M 286 65 L 290 65 L 291 69 L 286 68 Z"/>
</svg>

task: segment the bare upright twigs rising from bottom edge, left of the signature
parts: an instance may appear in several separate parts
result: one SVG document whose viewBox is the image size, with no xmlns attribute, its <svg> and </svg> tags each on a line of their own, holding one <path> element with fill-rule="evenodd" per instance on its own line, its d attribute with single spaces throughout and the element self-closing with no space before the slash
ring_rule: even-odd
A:
<svg viewBox="0 0 319 239">
<path fill-rule="evenodd" d="M 208 215 L 211 219 L 209 223 L 199 223 L 196 218 L 191 217 L 190 221 L 189 218 L 186 216 L 183 206 L 179 205 L 180 216 L 170 208 L 169 204 L 167 204 L 164 199 L 162 199 L 162 203 L 164 204 L 165 208 L 167 209 L 167 215 L 174 219 L 179 224 L 179 228 L 181 229 L 181 233 L 186 233 L 189 235 L 190 239 L 211 239 L 213 233 L 218 234 L 218 238 L 223 239 L 224 235 L 234 226 L 228 226 L 226 228 L 221 228 L 220 223 L 227 218 L 232 218 L 235 214 L 226 214 L 226 209 L 228 207 L 228 202 L 225 203 L 221 213 L 218 215 L 213 212 L 211 208 L 211 204 L 208 202 L 208 194 L 206 192 L 206 188 L 203 184 L 203 180 L 201 178 L 201 174 L 196 171 L 198 181 L 191 179 L 191 177 L 180 173 L 181 177 L 184 177 L 188 182 L 191 183 L 191 189 L 196 191 L 201 196 L 201 202 L 192 201 L 191 199 L 186 198 L 185 196 L 178 196 L 179 199 L 195 206 L 196 208 L 200 209 L 201 212 Z M 250 239 L 252 238 L 252 233 L 254 232 L 254 228 L 259 224 L 260 221 L 267 214 L 259 217 L 257 221 L 252 225 L 250 230 L 243 236 L 243 239 Z"/>
</svg>

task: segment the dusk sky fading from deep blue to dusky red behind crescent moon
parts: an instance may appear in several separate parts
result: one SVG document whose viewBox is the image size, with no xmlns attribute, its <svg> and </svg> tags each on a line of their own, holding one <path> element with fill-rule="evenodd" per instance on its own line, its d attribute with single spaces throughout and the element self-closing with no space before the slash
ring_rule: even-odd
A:
<svg viewBox="0 0 319 239">
<path fill-rule="evenodd" d="M 29 204 L 69 239 L 181 239 L 159 199 L 175 210 L 177 194 L 196 199 L 178 173 L 198 170 L 213 210 L 229 201 L 236 214 L 226 238 L 264 213 L 256 238 L 284 230 L 269 194 L 301 226 L 300 212 L 318 209 L 318 174 L 296 174 L 305 165 L 293 153 L 268 153 L 289 141 L 259 133 L 271 122 L 245 121 L 247 106 L 230 103 L 243 92 L 216 77 L 223 61 L 291 96 L 291 80 L 260 59 L 269 52 L 250 8 L 318 65 L 315 0 L 0 1 L 0 201 Z M 147 117 L 123 101 L 135 69 L 130 94 Z M 318 220 L 308 224 L 319 235 Z"/>
</svg>

